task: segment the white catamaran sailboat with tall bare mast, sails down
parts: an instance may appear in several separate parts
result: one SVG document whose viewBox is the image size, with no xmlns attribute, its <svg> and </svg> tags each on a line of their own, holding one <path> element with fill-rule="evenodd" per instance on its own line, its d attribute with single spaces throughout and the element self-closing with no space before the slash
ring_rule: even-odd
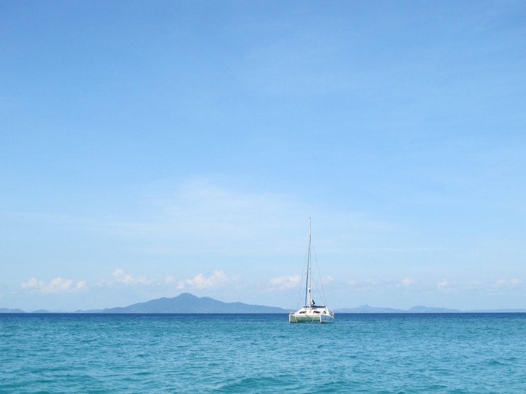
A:
<svg viewBox="0 0 526 394">
<path fill-rule="evenodd" d="M 316 305 L 312 299 L 312 262 L 311 262 L 311 223 L 309 217 L 309 251 L 307 257 L 307 278 L 305 282 L 305 306 L 297 312 L 289 313 L 289 323 L 332 323 L 334 312 L 325 305 Z"/>
</svg>

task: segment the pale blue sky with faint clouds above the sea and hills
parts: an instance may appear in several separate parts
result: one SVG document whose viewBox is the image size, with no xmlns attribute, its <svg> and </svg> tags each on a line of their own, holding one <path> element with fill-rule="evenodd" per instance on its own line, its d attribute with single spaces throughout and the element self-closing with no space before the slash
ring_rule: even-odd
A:
<svg viewBox="0 0 526 394">
<path fill-rule="evenodd" d="M 525 20 L 0 0 L 0 307 L 526 308 Z"/>
</svg>

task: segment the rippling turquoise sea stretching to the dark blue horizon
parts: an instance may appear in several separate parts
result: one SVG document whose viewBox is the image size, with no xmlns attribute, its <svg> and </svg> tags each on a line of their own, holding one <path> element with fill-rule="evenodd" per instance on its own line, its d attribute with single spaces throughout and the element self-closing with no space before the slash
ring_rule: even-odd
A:
<svg viewBox="0 0 526 394">
<path fill-rule="evenodd" d="M 524 393 L 526 314 L 0 315 L 2 393 Z"/>
</svg>

